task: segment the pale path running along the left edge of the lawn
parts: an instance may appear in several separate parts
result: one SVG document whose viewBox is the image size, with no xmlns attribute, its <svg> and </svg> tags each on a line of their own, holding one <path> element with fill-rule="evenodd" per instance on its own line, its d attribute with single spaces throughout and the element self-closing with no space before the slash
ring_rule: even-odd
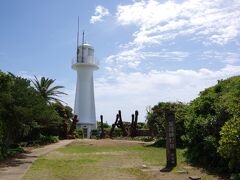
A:
<svg viewBox="0 0 240 180">
<path fill-rule="evenodd" d="M 73 140 L 62 140 L 55 144 L 50 144 L 32 150 L 30 153 L 23 153 L 16 158 L 0 163 L 0 180 L 18 180 L 23 177 L 29 167 L 39 156 L 47 154 L 57 148 L 66 146 Z"/>
</svg>

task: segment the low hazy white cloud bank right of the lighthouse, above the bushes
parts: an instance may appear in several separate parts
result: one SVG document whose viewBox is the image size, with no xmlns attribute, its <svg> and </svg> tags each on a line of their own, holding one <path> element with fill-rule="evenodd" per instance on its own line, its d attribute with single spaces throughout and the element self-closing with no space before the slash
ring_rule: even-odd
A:
<svg viewBox="0 0 240 180">
<path fill-rule="evenodd" d="M 97 114 L 103 114 L 105 120 L 113 122 L 115 113 L 121 109 L 124 120 L 130 121 L 131 113 L 138 109 L 140 120 L 144 120 L 147 105 L 155 105 L 160 101 L 189 102 L 200 91 L 216 84 L 217 80 L 239 74 L 240 66 L 233 65 L 226 65 L 219 70 L 113 71 L 109 74 L 111 78 L 95 81 Z"/>
</svg>

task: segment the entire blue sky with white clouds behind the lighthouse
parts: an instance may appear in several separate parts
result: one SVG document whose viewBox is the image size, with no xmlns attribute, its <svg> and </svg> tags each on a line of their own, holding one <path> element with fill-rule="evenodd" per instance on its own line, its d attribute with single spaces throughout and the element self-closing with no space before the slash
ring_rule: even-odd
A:
<svg viewBox="0 0 240 180">
<path fill-rule="evenodd" d="M 56 79 L 73 107 L 77 17 L 94 46 L 97 117 L 160 101 L 189 102 L 240 74 L 239 0 L 8 0 L 0 2 L 0 69 Z"/>
</svg>

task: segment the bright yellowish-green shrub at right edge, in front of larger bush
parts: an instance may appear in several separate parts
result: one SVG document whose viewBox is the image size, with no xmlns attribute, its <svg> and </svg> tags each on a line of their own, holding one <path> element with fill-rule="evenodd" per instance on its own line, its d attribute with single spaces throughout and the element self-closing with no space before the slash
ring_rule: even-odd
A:
<svg viewBox="0 0 240 180">
<path fill-rule="evenodd" d="M 220 135 L 218 152 L 222 157 L 229 159 L 231 171 L 240 172 L 240 117 L 226 122 Z"/>
</svg>

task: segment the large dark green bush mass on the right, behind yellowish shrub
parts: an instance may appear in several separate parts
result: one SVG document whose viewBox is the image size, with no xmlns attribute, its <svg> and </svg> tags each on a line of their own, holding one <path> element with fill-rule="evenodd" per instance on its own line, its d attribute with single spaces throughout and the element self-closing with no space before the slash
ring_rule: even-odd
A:
<svg viewBox="0 0 240 180">
<path fill-rule="evenodd" d="M 225 158 L 227 157 L 226 149 L 229 148 L 226 137 L 228 135 L 223 136 L 225 139 L 220 141 L 227 144 L 224 146 L 221 143 L 222 146 L 219 148 L 220 131 L 225 122 L 233 117 L 239 117 L 239 96 L 240 76 L 236 76 L 218 81 L 217 85 L 207 88 L 190 103 L 184 122 L 186 127 L 184 138 L 188 146 L 187 156 L 191 162 L 211 169 L 215 168 L 217 171 L 228 170 L 228 159 Z M 230 130 L 227 130 L 230 123 L 226 124 L 227 127 L 223 132 L 227 131 L 227 134 L 230 133 Z M 217 153 L 218 148 L 220 154 Z M 229 150 L 232 149 L 229 148 Z"/>
</svg>

